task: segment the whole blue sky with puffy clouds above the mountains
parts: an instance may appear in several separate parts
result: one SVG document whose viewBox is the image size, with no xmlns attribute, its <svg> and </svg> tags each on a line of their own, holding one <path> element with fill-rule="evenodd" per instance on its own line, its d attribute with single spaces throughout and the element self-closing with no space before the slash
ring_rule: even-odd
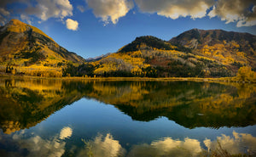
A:
<svg viewBox="0 0 256 157">
<path fill-rule="evenodd" d="M 0 25 L 18 19 L 90 58 L 137 36 L 170 40 L 193 28 L 256 35 L 255 0 L 1 0 Z"/>
</svg>

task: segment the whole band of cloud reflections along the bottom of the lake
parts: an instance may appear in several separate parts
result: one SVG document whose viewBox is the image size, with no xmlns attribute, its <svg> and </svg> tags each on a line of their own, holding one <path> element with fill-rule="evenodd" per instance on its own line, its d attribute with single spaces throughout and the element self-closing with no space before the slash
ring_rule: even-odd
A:
<svg viewBox="0 0 256 157">
<path fill-rule="evenodd" d="M 3 151 L 3 156 L 62 156 L 71 151 L 66 148 L 67 139 L 73 135 L 73 129 L 63 127 L 61 132 L 53 137 L 44 139 L 38 135 L 26 137 L 26 132 L 3 135 L 0 137 L 0 145 L 12 148 Z M 206 147 L 205 147 L 206 146 Z M 73 151 L 74 156 L 108 156 L 108 157 L 153 157 L 153 156 L 207 156 L 220 155 L 222 150 L 230 155 L 246 154 L 256 156 L 256 137 L 251 134 L 233 132 L 232 136 L 222 134 L 215 140 L 205 139 L 200 142 L 197 139 L 186 137 L 184 140 L 164 137 L 152 143 L 141 143 L 125 150 L 114 137 L 108 133 L 106 136 L 98 134 L 93 140 L 84 141 L 84 146 Z M 219 152 L 219 150 L 221 150 Z"/>
</svg>

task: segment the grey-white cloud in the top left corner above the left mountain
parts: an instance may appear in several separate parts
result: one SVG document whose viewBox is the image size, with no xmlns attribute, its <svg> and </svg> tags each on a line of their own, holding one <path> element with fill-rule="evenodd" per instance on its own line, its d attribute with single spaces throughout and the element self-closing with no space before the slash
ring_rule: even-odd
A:
<svg viewBox="0 0 256 157">
<path fill-rule="evenodd" d="M 9 8 L 10 10 L 4 9 L 8 4 L 14 3 L 24 4 L 22 6 L 26 6 L 26 8 L 15 7 Z M 72 16 L 73 5 L 69 0 L 1 0 L 0 20 L 5 23 L 6 18 L 10 15 L 10 11 L 13 13 L 11 16 L 20 14 L 21 20 L 26 20 L 27 23 L 31 24 L 32 16 L 36 16 L 40 20 L 48 20 L 49 18 L 63 20 L 68 16 Z"/>
</svg>

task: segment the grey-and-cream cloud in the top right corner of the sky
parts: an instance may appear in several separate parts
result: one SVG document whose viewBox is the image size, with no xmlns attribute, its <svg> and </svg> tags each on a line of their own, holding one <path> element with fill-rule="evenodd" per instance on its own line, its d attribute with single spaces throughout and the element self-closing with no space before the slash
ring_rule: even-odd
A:
<svg viewBox="0 0 256 157">
<path fill-rule="evenodd" d="M 208 16 L 218 16 L 226 20 L 226 24 L 237 22 L 237 27 L 256 25 L 256 1 L 218 0 Z"/>
</svg>

